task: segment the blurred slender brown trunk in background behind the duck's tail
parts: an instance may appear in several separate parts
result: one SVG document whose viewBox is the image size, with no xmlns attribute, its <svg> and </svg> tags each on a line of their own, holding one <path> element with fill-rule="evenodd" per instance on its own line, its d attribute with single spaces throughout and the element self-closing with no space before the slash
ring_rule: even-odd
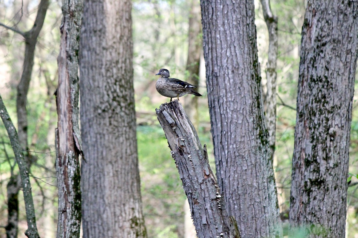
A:
<svg viewBox="0 0 358 238">
<path fill-rule="evenodd" d="M 203 49 L 203 38 L 200 34 L 202 29 L 199 0 L 192 0 L 189 14 L 188 59 L 186 66 L 189 77 L 187 81 L 198 87 L 199 90 L 200 55 Z M 197 127 L 199 125 L 198 97 L 189 96 L 187 98 L 185 109 L 188 112 L 189 118 Z"/>
</svg>

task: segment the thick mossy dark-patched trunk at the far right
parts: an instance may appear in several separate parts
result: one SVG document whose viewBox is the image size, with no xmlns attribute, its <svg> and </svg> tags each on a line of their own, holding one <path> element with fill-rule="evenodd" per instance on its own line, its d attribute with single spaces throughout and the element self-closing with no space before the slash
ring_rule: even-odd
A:
<svg viewBox="0 0 358 238">
<path fill-rule="evenodd" d="M 309 1 L 302 27 L 290 224 L 344 237 L 358 4 Z"/>
</svg>

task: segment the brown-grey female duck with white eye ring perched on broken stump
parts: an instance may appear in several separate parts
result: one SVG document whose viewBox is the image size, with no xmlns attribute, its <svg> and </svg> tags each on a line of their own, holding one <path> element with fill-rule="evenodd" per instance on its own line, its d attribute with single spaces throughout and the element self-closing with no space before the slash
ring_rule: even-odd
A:
<svg viewBox="0 0 358 238">
<path fill-rule="evenodd" d="M 157 80 L 155 84 L 156 90 L 165 97 L 170 97 L 170 102 L 173 97 L 184 96 L 185 94 L 194 94 L 195 96 L 202 96 L 200 93 L 194 90 L 194 86 L 190 83 L 184 82 L 179 79 L 169 79 L 170 74 L 167 69 L 160 69 L 159 73 L 161 77 Z"/>
</svg>

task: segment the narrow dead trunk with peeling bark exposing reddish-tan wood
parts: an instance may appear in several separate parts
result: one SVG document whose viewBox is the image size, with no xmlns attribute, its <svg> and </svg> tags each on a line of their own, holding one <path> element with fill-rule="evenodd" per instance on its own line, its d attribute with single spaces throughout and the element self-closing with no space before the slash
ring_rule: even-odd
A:
<svg viewBox="0 0 358 238">
<path fill-rule="evenodd" d="M 83 0 L 62 1 L 58 62 L 56 177 L 58 184 L 57 238 L 79 237 L 81 225 L 81 174 L 78 125 L 78 51 Z"/>
</svg>

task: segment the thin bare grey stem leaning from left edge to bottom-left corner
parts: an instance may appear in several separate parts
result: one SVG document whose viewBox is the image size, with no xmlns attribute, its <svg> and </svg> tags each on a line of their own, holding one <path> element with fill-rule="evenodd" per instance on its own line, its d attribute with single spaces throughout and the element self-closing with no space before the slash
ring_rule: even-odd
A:
<svg viewBox="0 0 358 238">
<path fill-rule="evenodd" d="M 36 217 L 35 217 L 35 208 L 34 201 L 32 199 L 31 193 L 31 183 L 29 178 L 29 168 L 25 161 L 25 156 L 20 145 L 18 133 L 16 132 L 15 126 L 11 121 L 8 111 L 3 102 L 3 98 L 0 96 L 0 117 L 3 120 L 6 131 L 10 138 L 11 146 L 13 147 L 15 159 L 18 163 L 20 176 L 21 176 L 21 187 L 24 194 L 25 202 L 25 211 L 26 211 L 26 221 L 28 229 L 25 232 L 25 235 L 29 238 L 40 238 L 36 226 Z"/>
</svg>

